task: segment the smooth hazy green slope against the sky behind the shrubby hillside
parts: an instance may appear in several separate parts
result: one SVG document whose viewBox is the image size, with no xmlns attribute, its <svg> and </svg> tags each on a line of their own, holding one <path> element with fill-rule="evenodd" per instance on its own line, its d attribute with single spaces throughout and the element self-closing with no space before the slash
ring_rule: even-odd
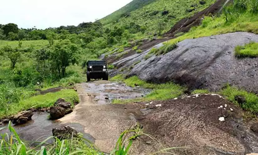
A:
<svg viewBox="0 0 258 155">
<path fill-rule="evenodd" d="M 123 8 L 120 8 L 119 10 L 115 11 L 114 13 L 104 17 L 103 19 L 100 19 L 100 22 L 102 24 L 109 24 L 109 23 L 121 18 L 121 16 L 126 16 L 127 13 L 134 11 L 138 8 L 141 8 L 154 1 L 156 1 L 156 0 L 133 0 L 132 2 L 125 5 Z"/>
</svg>

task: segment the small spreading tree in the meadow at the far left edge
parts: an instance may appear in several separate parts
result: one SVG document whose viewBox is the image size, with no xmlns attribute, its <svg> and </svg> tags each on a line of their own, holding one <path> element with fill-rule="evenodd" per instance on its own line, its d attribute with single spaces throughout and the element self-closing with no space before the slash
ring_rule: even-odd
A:
<svg viewBox="0 0 258 155">
<path fill-rule="evenodd" d="M 18 48 L 13 49 L 11 46 L 7 45 L 1 49 L 0 55 L 10 59 L 11 68 L 13 69 L 15 64 L 20 60 L 21 51 Z"/>
</svg>

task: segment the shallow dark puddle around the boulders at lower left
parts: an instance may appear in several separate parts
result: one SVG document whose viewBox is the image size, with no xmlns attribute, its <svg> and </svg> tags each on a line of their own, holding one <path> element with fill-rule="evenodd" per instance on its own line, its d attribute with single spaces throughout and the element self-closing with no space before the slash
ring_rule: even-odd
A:
<svg viewBox="0 0 258 155">
<path fill-rule="evenodd" d="M 32 116 L 32 120 L 26 124 L 13 126 L 15 131 L 18 133 L 21 139 L 28 141 L 31 146 L 35 146 L 37 142 L 42 142 L 52 135 L 52 129 L 58 128 L 60 126 L 69 125 L 73 127 L 76 131 L 81 132 L 83 137 L 88 139 L 90 142 L 94 143 L 95 139 L 90 134 L 84 133 L 84 127 L 79 123 L 67 123 L 61 124 L 58 120 L 48 120 L 48 113 L 46 112 L 36 112 Z M 7 127 L 8 125 L 2 125 L 0 127 Z M 0 134 L 10 134 L 10 131 L 5 128 L 0 131 Z M 52 143 L 54 140 L 50 139 L 48 143 Z"/>
</svg>

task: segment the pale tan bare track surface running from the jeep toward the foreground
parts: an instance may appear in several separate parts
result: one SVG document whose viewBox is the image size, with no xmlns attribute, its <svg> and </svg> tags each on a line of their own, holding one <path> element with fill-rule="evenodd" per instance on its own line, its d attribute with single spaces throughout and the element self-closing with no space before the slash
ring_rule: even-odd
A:
<svg viewBox="0 0 258 155">
<path fill-rule="evenodd" d="M 111 152 L 119 135 L 136 125 L 132 113 L 123 106 L 111 105 L 112 98 L 134 98 L 144 95 L 142 90 L 133 89 L 122 83 L 93 81 L 77 85 L 80 103 L 74 111 L 61 118 L 66 123 L 79 123 L 84 132 L 95 139 L 95 145 L 104 152 Z"/>
</svg>

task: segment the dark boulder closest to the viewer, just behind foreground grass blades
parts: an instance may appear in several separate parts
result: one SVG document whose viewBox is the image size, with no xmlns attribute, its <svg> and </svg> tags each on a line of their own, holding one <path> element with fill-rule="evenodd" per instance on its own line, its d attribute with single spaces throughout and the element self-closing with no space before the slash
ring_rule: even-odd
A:
<svg viewBox="0 0 258 155">
<path fill-rule="evenodd" d="M 61 126 L 59 128 L 52 129 L 53 136 L 57 137 L 58 139 L 71 139 L 72 135 L 76 137 L 78 132 L 71 128 L 70 126 Z"/>
</svg>

